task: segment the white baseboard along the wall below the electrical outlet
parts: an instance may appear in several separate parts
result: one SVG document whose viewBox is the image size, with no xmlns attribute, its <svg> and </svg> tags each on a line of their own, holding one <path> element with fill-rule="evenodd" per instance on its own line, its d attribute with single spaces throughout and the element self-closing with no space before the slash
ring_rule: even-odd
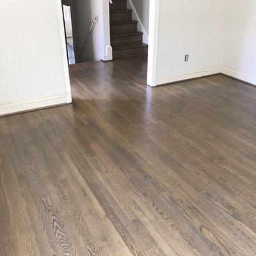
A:
<svg viewBox="0 0 256 256">
<path fill-rule="evenodd" d="M 195 72 L 189 72 L 186 74 L 159 77 L 159 78 L 157 78 L 157 85 L 174 83 L 174 82 L 198 78 L 198 77 L 202 77 L 202 76 L 211 76 L 214 74 L 218 74 L 220 72 L 221 72 L 221 67 L 214 67 L 214 68 L 208 68 L 208 69 L 204 69 L 204 70 L 198 70 Z"/>
</svg>

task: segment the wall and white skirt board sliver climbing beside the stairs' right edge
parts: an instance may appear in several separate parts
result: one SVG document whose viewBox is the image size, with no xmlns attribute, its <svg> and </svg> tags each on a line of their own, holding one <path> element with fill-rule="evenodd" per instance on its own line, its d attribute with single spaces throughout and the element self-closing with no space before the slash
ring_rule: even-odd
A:
<svg viewBox="0 0 256 256">
<path fill-rule="evenodd" d="M 128 0 L 127 8 L 133 10 L 132 19 L 138 20 L 138 31 L 143 33 L 143 43 L 148 44 L 150 0 Z"/>
</svg>

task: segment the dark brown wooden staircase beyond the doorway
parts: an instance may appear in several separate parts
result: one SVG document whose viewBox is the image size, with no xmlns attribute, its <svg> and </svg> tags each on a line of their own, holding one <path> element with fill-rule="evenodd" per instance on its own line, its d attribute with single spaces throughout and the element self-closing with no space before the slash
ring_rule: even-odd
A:
<svg viewBox="0 0 256 256">
<path fill-rule="evenodd" d="M 112 0 L 110 10 L 110 36 L 113 60 L 147 55 L 148 45 L 142 43 L 143 33 L 137 31 L 138 21 L 132 20 L 127 0 Z"/>
</svg>

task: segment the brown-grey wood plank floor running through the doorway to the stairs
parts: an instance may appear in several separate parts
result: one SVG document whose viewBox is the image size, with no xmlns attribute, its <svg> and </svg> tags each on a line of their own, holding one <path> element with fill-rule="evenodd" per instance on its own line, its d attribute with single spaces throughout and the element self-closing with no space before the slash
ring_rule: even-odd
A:
<svg viewBox="0 0 256 256">
<path fill-rule="evenodd" d="M 0 118 L 0 255 L 256 255 L 256 88 L 70 67 L 74 101 Z"/>
</svg>

